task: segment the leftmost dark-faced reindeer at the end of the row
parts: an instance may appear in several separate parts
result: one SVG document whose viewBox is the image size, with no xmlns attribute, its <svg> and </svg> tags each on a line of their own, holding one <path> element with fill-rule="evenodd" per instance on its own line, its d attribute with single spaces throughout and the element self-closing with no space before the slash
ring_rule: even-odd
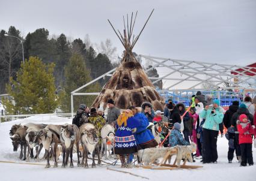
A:
<svg viewBox="0 0 256 181">
<path fill-rule="evenodd" d="M 13 143 L 13 151 L 17 152 L 17 149 L 19 147 L 20 144 L 20 156 L 19 158 L 22 159 L 23 156 L 23 160 L 26 159 L 26 127 L 20 127 L 18 128 L 14 134 L 10 137 Z M 10 131 L 11 132 L 11 131 Z M 24 154 L 24 155 L 23 155 Z"/>
</svg>

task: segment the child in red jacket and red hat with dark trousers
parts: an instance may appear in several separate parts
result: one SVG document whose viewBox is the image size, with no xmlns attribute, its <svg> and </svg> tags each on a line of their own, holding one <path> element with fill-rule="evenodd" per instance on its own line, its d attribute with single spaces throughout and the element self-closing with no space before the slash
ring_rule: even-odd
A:
<svg viewBox="0 0 256 181">
<path fill-rule="evenodd" d="M 252 158 L 252 135 L 255 126 L 251 125 L 246 114 L 241 114 L 237 120 L 237 131 L 239 132 L 239 145 L 241 149 L 242 162 L 240 166 L 245 167 L 248 164 L 254 165 Z"/>
</svg>

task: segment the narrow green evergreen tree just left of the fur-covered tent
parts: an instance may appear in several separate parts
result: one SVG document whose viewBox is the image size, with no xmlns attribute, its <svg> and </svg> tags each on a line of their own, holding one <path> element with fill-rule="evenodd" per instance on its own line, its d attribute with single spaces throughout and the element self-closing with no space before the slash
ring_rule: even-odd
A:
<svg viewBox="0 0 256 181">
<path fill-rule="evenodd" d="M 70 111 L 70 93 L 85 85 L 91 81 L 90 70 L 87 69 L 85 65 L 84 57 L 78 53 L 74 53 L 69 63 L 65 67 L 65 92 L 61 95 L 61 109 L 64 111 Z M 79 92 L 100 92 L 99 83 L 94 83 L 93 85 L 87 86 Z M 96 96 L 73 96 L 74 98 L 74 109 L 76 109 L 79 104 L 87 104 L 90 106 Z"/>
</svg>

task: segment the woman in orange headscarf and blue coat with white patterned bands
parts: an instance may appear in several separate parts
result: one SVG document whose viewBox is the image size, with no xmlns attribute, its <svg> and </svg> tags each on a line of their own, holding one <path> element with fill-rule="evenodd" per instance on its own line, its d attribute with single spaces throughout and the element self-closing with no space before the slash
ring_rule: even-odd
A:
<svg viewBox="0 0 256 181">
<path fill-rule="evenodd" d="M 133 132 L 140 125 L 138 119 L 133 117 L 131 110 L 123 111 L 117 119 L 117 131 L 115 132 L 115 154 L 120 155 L 121 167 L 130 166 L 130 154 L 138 151 Z"/>
</svg>

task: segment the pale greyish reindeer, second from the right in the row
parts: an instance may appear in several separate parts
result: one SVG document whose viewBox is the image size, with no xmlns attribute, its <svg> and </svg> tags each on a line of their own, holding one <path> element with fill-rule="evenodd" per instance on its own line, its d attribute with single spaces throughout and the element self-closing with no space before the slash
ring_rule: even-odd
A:
<svg viewBox="0 0 256 181">
<path fill-rule="evenodd" d="M 100 153 L 99 153 L 99 138 L 97 137 L 97 130 L 94 125 L 91 123 L 85 123 L 84 125 L 80 126 L 80 134 L 81 134 L 81 144 L 84 149 L 82 164 L 84 168 L 88 168 L 87 158 L 88 152 L 93 153 L 93 164 L 91 165 L 92 168 L 96 167 L 94 157 L 95 151 L 97 150 L 98 155 L 98 165 L 100 165 Z M 84 163 L 85 159 L 85 163 Z"/>
</svg>

